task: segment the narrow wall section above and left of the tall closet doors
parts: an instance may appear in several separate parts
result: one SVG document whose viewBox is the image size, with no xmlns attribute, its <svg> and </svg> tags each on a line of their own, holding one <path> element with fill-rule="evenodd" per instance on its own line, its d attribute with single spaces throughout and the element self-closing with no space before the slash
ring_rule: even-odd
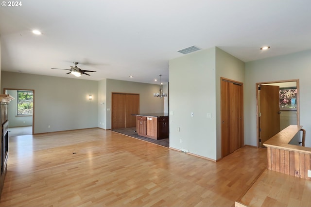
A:
<svg viewBox="0 0 311 207">
<path fill-rule="evenodd" d="M 221 158 L 221 77 L 244 83 L 245 64 L 229 53 L 216 48 L 216 109 L 217 109 L 217 159 Z M 243 90 L 245 86 L 243 85 Z M 245 113 L 244 113 L 245 115 Z"/>
</svg>

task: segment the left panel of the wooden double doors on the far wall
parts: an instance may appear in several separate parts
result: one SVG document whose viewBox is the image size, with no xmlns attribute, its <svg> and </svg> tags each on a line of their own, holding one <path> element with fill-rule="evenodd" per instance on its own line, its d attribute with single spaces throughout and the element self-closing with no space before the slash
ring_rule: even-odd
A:
<svg viewBox="0 0 311 207">
<path fill-rule="evenodd" d="M 111 128 L 125 128 L 126 96 L 112 94 L 111 102 Z"/>
</svg>

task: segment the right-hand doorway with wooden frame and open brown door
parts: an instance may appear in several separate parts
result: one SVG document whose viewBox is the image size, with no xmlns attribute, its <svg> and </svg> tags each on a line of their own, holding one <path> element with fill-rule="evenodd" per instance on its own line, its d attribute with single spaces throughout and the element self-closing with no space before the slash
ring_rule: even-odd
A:
<svg viewBox="0 0 311 207">
<path fill-rule="evenodd" d="M 299 80 L 256 83 L 257 146 L 289 125 L 300 125 Z"/>
</svg>

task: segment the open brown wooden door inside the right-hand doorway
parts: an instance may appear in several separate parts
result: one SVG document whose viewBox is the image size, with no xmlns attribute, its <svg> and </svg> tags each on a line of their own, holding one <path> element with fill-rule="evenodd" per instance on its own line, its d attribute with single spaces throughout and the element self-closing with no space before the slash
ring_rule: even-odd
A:
<svg viewBox="0 0 311 207">
<path fill-rule="evenodd" d="M 260 85 L 259 90 L 259 143 L 280 131 L 279 86 Z"/>
</svg>

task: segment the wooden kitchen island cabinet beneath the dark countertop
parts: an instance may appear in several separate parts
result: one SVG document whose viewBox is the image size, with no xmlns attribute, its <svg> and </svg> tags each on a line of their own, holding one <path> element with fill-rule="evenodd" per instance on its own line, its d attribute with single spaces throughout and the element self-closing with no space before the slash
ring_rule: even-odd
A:
<svg viewBox="0 0 311 207">
<path fill-rule="evenodd" d="M 137 116 L 136 130 L 139 136 L 159 140 L 169 137 L 169 116 Z"/>
</svg>

